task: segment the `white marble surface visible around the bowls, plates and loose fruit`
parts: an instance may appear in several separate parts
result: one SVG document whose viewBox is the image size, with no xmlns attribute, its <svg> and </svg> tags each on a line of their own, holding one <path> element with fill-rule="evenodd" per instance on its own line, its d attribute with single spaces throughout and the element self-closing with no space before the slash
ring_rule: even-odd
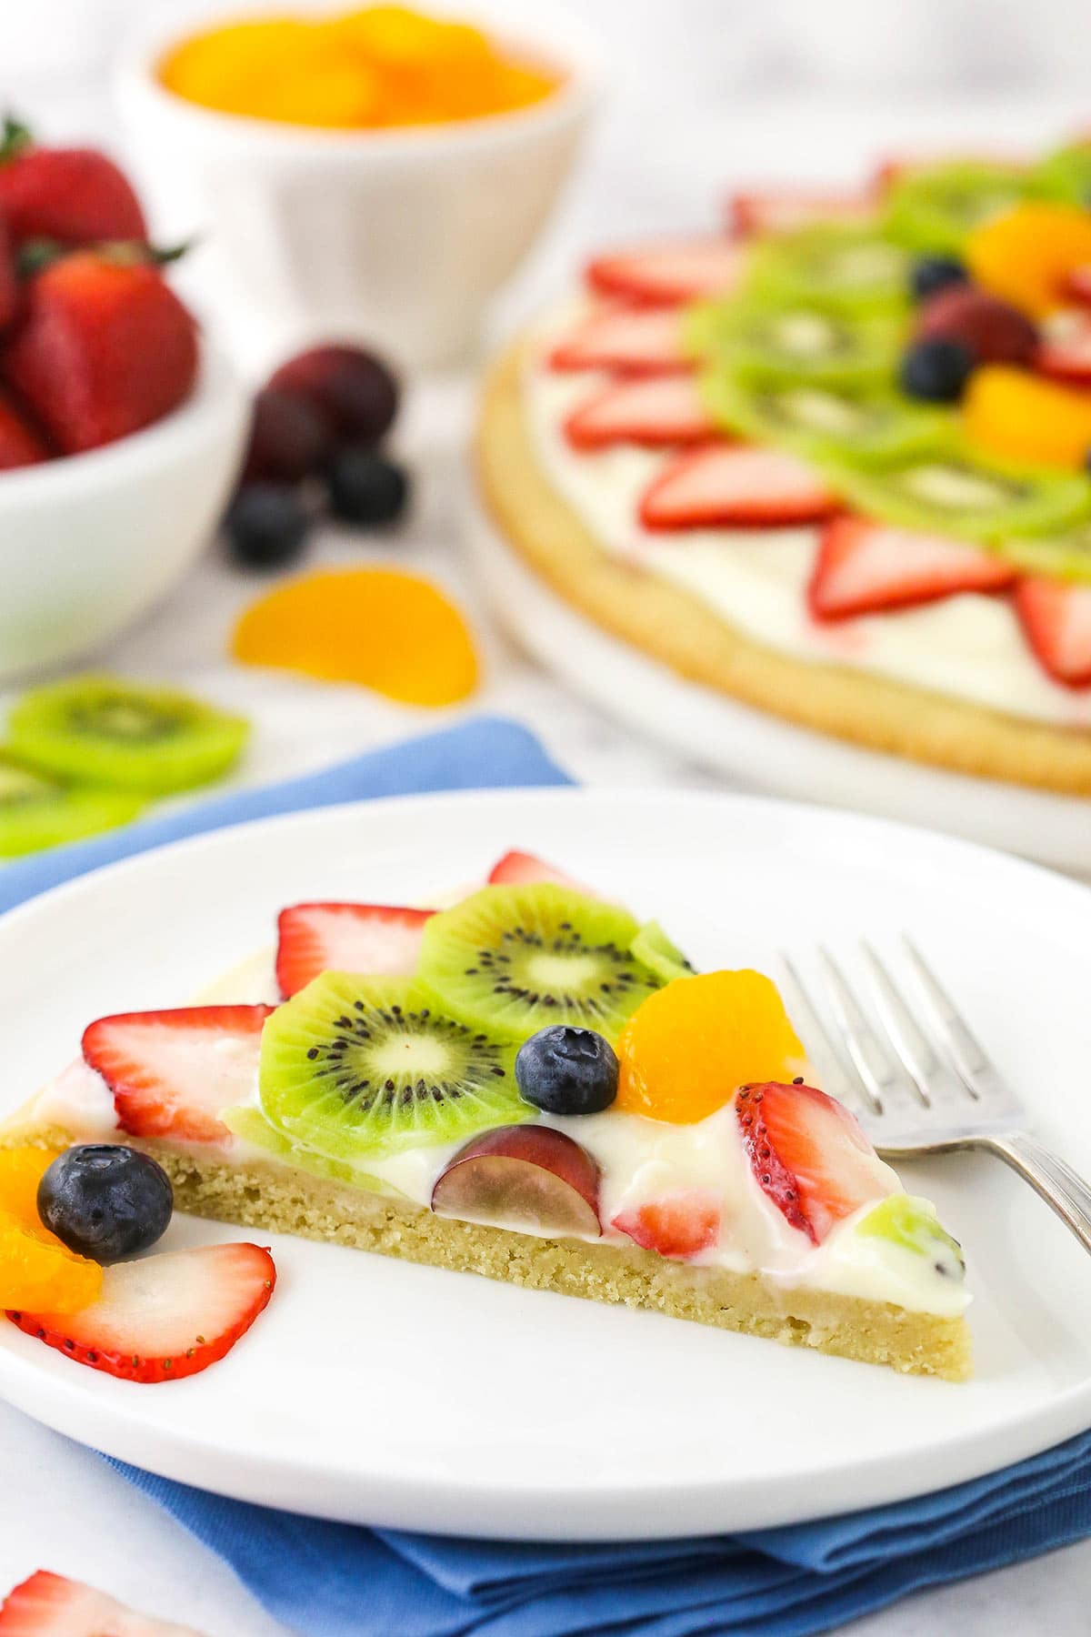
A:
<svg viewBox="0 0 1091 1637">
<path fill-rule="evenodd" d="M 98 5 L 103 29 L 118 23 L 126 3 Z M 106 36 L 90 31 L 90 44 L 67 56 L 59 49 L 43 56 L 41 33 L 31 38 L 36 18 L 39 29 L 52 28 L 59 39 L 57 29 L 67 28 L 65 5 L 75 7 L 72 16 L 83 16 L 95 0 L 43 0 L 23 8 L 20 100 L 47 129 L 98 126 L 116 141 L 100 88 L 83 77 L 97 56 L 95 39 Z M 775 0 L 761 8 L 761 18 L 756 8 L 723 0 L 690 0 L 687 8 L 595 0 L 587 15 L 615 28 L 618 97 L 556 231 L 502 304 L 497 324 L 510 322 L 548 291 L 581 244 L 648 226 L 710 223 L 716 195 L 731 177 L 851 177 L 877 151 L 934 144 L 944 136 L 999 136 L 1017 146 L 1045 139 L 1086 113 L 1078 87 L 1081 74 L 1086 80 L 1091 36 L 1086 26 L 1080 29 L 1078 7 L 1065 0 L 1034 8 L 1034 16 L 1024 8 L 1022 25 L 1012 21 L 1014 8 L 985 0 L 937 8 L 833 0 L 813 11 L 798 0 Z M 1044 15 L 1052 18 L 1048 28 Z M 677 26 L 682 16 L 685 29 Z M 13 21 L 5 18 L 5 29 Z M 967 80 L 983 88 L 978 98 L 950 93 L 954 83 Z M 1047 82 L 1070 90 L 1027 95 L 1029 87 Z M 754 85 L 762 88 L 759 98 Z M 947 92 L 942 103 L 927 100 L 937 87 Z M 1021 93 L 1012 87 L 1022 87 Z M 906 88 L 916 88 L 916 100 L 905 98 Z M 160 214 L 167 219 L 170 213 Z M 224 295 L 229 286 L 214 275 L 209 247 L 191 282 L 209 316 L 227 324 L 240 357 L 255 367 L 276 340 L 245 324 L 245 314 Z M 455 539 L 468 391 L 466 380 L 430 383 L 409 404 L 401 439 L 419 478 L 411 525 L 366 548 L 357 537 L 329 530 L 316 542 L 316 560 L 397 557 L 443 578 L 471 612 L 478 611 Z M 226 632 L 255 589 L 254 578 L 234 573 L 211 552 L 167 607 L 103 658 L 134 674 L 168 674 L 240 701 L 257 719 L 254 768 L 260 774 L 317 766 L 422 725 L 420 717 L 355 691 L 322 691 L 319 702 L 304 684 L 232 673 L 224 661 Z M 641 784 L 702 779 L 564 696 L 494 635 L 483 634 L 483 640 L 487 681 L 478 704 L 523 717 L 577 778 Z M 193 1624 L 208 1637 L 275 1637 L 283 1630 L 213 1554 L 93 1454 L 7 1406 L 0 1406 L 0 1590 L 36 1567 L 51 1567 Z M 963 1586 L 924 1593 L 852 1630 L 857 1637 L 950 1630 L 960 1637 L 1022 1637 L 1048 1629 L 1053 1637 L 1086 1637 L 1089 1578 L 1091 1542 L 1084 1542 Z"/>
</svg>

